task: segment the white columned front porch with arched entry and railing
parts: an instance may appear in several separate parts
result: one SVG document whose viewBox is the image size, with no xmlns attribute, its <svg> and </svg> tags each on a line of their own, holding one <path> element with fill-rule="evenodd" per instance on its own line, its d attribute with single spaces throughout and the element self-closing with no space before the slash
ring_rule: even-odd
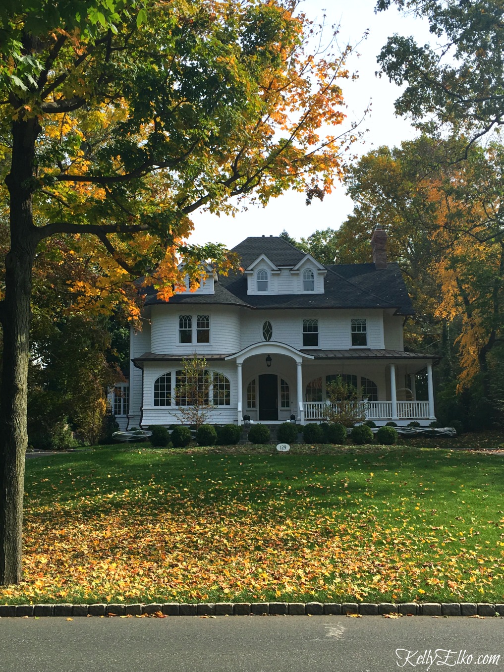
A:
<svg viewBox="0 0 504 672">
<path fill-rule="evenodd" d="M 357 388 L 364 417 L 376 425 L 435 420 L 432 358 L 401 351 L 296 350 L 283 343 L 257 343 L 227 360 L 237 366 L 237 421 L 277 424 L 327 420 L 326 384 L 343 376 Z M 423 381 L 417 398 L 417 376 Z M 425 395 L 425 396 L 423 396 Z M 422 398 L 423 396 L 423 398 Z M 427 397 L 427 398 L 425 398 Z"/>
</svg>

